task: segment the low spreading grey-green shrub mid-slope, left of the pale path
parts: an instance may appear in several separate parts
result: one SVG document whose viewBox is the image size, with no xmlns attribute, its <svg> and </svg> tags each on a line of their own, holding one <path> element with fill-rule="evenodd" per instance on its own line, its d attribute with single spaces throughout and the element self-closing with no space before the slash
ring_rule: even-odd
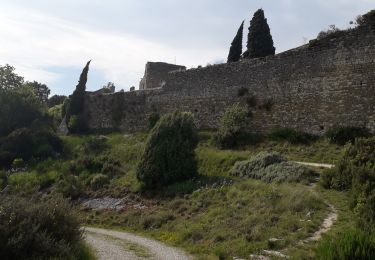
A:
<svg viewBox="0 0 375 260">
<path fill-rule="evenodd" d="M 231 175 L 260 179 L 265 182 L 311 182 L 317 174 L 278 153 L 260 153 L 250 160 L 236 162 Z"/>
</svg>

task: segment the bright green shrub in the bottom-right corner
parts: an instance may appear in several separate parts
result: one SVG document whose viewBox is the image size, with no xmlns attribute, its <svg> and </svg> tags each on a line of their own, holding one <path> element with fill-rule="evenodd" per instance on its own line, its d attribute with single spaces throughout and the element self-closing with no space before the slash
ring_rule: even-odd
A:
<svg viewBox="0 0 375 260">
<path fill-rule="evenodd" d="M 375 239 L 358 230 L 350 230 L 338 237 L 325 238 L 316 249 L 316 259 L 375 259 Z"/>
</svg>

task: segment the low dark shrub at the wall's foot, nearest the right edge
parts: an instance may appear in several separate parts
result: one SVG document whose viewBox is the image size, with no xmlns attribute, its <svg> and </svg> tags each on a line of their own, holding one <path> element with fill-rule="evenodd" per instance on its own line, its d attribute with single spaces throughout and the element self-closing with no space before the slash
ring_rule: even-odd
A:
<svg viewBox="0 0 375 260">
<path fill-rule="evenodd" d="M 370 134 L 366 128 L 361 127 L 335 127 L 327 131 L 327 138 L 333 144 L 345 145 L 354 143 L 356 138 L 369 137 Z"/>
</svg>

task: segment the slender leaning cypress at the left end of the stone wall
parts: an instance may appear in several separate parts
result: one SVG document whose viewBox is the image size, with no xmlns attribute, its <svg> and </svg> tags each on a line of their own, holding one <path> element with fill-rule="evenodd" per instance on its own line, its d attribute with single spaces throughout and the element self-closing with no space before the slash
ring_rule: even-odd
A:
<svg viewBox="0 0 375 260">
<path fill-rule="evenodd" d="M 86 66 L 83 68 L 81 76 L 79 77 L 78 85 L 74 90 L 73 94 L 70 96 L 70 104 L 68 109 L 68 117 L 72 115 L 80 115 L 83 111 L 87 74 L 89 72 L 90 62 L 87 62 Z"/>
</svg>

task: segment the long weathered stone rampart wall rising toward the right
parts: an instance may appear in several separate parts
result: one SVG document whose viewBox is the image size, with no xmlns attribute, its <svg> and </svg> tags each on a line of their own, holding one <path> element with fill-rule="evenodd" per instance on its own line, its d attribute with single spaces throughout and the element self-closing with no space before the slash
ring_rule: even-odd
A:
<svg viewBox="0 0 375 260">
<path fill-rule="evenodd" d="M 360 27 L 276 56 L 172 72 L 165 82 L 125 93 L 121 129 L 145 130 L 150 113 L 175 110 L 194 113 L 200 128 L 215 128 L 228 106 L 248 106 L 251 99 L 252 131 L 290 127 L 321 134 L 344 125 L 375 132 L 375 30 Z M 113 126 L 112 99 L 87 97 L 91 128 Z"/>
</svg>

